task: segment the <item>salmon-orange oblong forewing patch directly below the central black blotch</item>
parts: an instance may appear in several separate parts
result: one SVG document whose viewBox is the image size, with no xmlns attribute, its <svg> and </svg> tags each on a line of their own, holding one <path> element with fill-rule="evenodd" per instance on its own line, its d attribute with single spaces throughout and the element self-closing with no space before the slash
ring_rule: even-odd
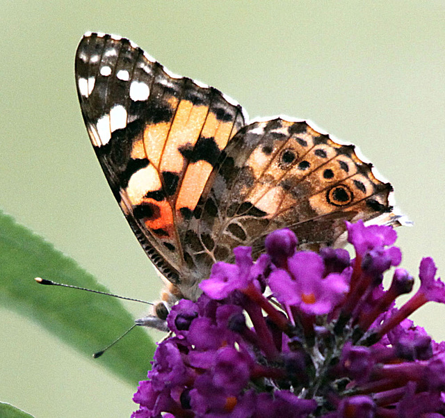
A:
<svg viewBox="0 0 445 418">
<path fill-rule="evenodd" d="M 176 211 L 183 207 L 191 211 L 195 209 L 212 170 L 211 164 L 204 160 L 188 165 L 176 201 Z"/>
</svg>

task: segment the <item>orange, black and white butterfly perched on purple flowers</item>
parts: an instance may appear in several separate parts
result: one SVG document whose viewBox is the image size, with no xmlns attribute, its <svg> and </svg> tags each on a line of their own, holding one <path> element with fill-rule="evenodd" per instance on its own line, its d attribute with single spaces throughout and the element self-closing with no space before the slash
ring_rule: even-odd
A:
<svg viewBox="0 0 445 418">
<path fill-rule="evenodd" d="M 304 120 L 248 122 L 219 90 L 179 77 L 117 35 L 86 33 L 76 86 L 92 146 L 124 216 L 168 280 L 144 325 L 165 329 L 168 308 L 195 300 L 216 261 L 236 246 L 264 250 L 287 227 L 300 249 L 335 246 L 345 220 L 398 225 L 391 184 L 354 145 Z"/>
</svg>

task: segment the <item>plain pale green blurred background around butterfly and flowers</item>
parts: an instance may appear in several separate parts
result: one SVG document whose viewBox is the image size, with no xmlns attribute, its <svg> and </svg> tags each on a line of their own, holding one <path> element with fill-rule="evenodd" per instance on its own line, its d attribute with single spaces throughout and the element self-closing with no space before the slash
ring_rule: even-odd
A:
<svg viewBox="0 0 445 418">
<path fill-rule="evenodd" d="M 0 207 L 113 292 L 152 300 L 160 282 L 83 126 L 73 67 L 85 31 L 130 38 L 252 118 L 307 118 L 359 145 L 414 220 L 398 230 L 403 266 L 416 273 L 431 255 L 444 273 L 444 1 L 3 0 L 0 23 Z M 445 339 L 444 315 L 431 304 L 414 319 Z M 13 312 L 1 318 L 1 401 L 38 418 L 129 417 L 136 408 L 136 387 L 100 360 Z"/>
</svg>

